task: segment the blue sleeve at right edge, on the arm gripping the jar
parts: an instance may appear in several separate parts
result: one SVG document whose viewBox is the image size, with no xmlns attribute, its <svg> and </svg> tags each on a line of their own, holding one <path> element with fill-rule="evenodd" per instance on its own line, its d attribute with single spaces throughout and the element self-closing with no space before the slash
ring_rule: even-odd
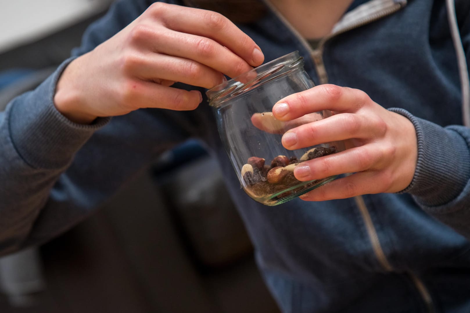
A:
<svg viewBox="0 0 470 313">
<path fill-rule="evenodd" d="M 468 7 L 468 2 L 465 5 Z M 466 15 L 461 36 L 470 65 L 470 15 Z M 425 212 L 470 240 L 470 129 L 441 127 L 399 108 L 391 111 L 413 122 L 418 139 L 415 176 L 401 192 L 411 194 Z"/>
</svg>

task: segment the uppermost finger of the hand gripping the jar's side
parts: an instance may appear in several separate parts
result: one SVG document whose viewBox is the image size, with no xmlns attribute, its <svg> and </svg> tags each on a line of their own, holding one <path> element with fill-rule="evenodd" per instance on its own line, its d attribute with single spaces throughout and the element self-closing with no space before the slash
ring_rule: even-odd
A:
<svg viewBox="0 0 470 313">
<path fill-rule="evenodd" d="M 352 113 L 368 101 L 371 101 L 368 95 L 359 89 L 322 84 L 277 101 L 273 114 L 281 121 L 290 121 L 323 110 Z"/>
</svg>

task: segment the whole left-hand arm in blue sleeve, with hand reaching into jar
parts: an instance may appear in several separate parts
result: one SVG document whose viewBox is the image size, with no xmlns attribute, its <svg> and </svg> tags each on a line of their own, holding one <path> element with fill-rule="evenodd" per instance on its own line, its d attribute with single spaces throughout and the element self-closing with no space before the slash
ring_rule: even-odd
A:
<svg viewBox="0 0 470 313">
<path fill-rule="evenodd" d="M 223 16 L 169 4 L 146 10 L 146 5 L 144 0 L 116 2 L 90 26 L 72 53 L 77 58 L 15 99 L 2 116 L 0 136 L 9 142 L 2 143 L 6 149 L 0 153 L 0 198 L 5 199 L 0 253 L 70 228 L 158 153 L 200 135 L 208 123 L 199 114 L 210 112 L 195 110 L 202 101 L 200 87 L 210 88 L 223 81 L 222 73 L 236 76 L 263 61 L 251 38 Z M 207 28 L 207 16 L 229 28 L 215 38 L 219 41 L 190 33 L 211 34 L 219 24 Z M 184 29 L 176 32 L 167 24 Z M 196 48 L 179 49 L 185 42 Z M 155 44 L 169 54 L 155 53 Z M 107 116 L 117 117 L 97 131 Z"/>
</svg>

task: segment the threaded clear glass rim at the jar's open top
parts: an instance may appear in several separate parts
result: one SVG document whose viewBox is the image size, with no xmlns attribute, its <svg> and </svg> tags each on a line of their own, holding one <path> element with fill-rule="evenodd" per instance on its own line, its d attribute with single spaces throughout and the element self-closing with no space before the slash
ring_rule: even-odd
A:
<svg viewBox="0 0 470 313">
<path fill-rule="evenodd" d="M 298 69 L 298 65 L 303 65 L 303 59 L 298 51 L 294 51 L 239 76 L 235 76 L 206 91 L 209 105 L 211 107 L 219 107 L 227 99 L 248 92 L 274 78 L 289 74 Z"/>
</svg>

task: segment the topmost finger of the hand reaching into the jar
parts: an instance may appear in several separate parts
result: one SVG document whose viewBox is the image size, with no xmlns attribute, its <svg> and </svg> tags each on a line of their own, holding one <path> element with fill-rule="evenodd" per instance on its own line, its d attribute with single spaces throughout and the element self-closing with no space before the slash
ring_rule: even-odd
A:
<svg viewBox="0 0 470 313">
<path fill-rule="evenodd" d="M 213 11 L 178 7 L 164 14 L 165 25 L 174 30 L 217 41 L 251 66 L 261 65 L 264 55 L 259 46 L 227 17 Z M 242 73 L 240 73 L 242 74 Z"/>
</svg>

